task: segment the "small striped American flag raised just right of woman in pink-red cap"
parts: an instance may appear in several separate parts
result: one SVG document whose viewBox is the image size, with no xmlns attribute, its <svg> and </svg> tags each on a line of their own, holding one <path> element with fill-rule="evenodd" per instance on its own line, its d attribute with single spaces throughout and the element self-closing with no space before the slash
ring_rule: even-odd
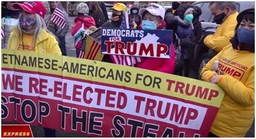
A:
<svg viewBox="0 0 256 139">
<path fill-rule="evenodd" d="M 58 2 L 57 7 L 55 8 L 52 17 L 50 18 L 50 20 L 60 26 L 62 29 L 65 27 L 66 22 L 65 22 L 65 17 L 64 17 L 64 13 L 63 13 L 63 7 L 62 4 L 60 2 Z"/>
</svg>

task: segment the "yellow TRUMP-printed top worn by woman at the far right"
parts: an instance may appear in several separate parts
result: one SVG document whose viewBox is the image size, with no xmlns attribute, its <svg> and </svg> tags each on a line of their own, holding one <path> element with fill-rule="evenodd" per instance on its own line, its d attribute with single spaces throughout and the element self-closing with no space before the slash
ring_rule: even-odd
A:
<svg viewBox="0 0 256 139">
<path fill-rule="evenodd" d="M 201 77 L 210 81 L 214 60 L 219 60 L 217 85 L 225 91 L 221 107 L 211 127 L 219 137 L 244 137 L 254 120 L 254 53 L 234 50 L 227 45 L 204 66 Z"/>
</svg>

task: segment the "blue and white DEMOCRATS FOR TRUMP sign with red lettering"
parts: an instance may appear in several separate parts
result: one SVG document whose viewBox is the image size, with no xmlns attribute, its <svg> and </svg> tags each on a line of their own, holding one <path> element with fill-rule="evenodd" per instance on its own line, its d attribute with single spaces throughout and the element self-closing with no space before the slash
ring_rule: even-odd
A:
<svg viewBox="0 0 256 139">
<path fill-rule="evenodd" d="M 173 30 L 101 29 L 101 53 L 170 58 Z"/>
</svg>

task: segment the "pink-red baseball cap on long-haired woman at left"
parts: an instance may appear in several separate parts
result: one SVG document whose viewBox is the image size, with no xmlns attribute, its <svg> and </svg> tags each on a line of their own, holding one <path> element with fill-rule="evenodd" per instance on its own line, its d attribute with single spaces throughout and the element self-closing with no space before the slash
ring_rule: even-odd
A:
<svg viewBox="0 0 256 139">
<path fill-rule="evenodd" d="M 26 1 L 23 3 L 15 3 L 13 7 L 16 9 L 23 9 L 31 14 L 39 14 L 41 17 L 45 17 L 45 6 L 40 1 Z"/>
</svg>

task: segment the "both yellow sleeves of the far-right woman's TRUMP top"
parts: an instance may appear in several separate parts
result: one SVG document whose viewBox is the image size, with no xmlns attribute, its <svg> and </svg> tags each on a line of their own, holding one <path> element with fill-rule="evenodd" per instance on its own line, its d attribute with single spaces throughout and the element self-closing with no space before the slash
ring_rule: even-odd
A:
<svg viewBox="0 0 256 139">
<path fill-rule="evenodd" d="M 206 66 L 201 71 L 201 78 L 204 81 L 211 81 L 211 78 L 215 76 L 217 73 L 212 71 L 212 66 L 215 60 L 219 60 L 222 53 L 227 50 L 230 45 L 224 47 L 223 50 L 214 56 Z M 255 96 L 255 69 L 250 72 L 250 76 L 245 83 L 242 83 L 238 79 L 233 78 L 229 74 L 221 75 L 217 79 L 217 84 L 221 87 L 229 96 L 232 97 L 235 101 L 242 105 L 254 105 L 254 96 Z"/>
</svg>

